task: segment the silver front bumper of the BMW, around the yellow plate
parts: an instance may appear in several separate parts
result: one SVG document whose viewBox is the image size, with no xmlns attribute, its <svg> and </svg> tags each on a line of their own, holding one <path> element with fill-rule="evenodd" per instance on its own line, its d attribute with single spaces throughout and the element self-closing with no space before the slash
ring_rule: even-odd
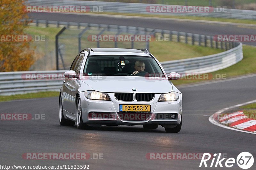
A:
<svg viewBox="0 0 256 170">
<path fill-rule="evenodd" d="M 152 101 L 139 102 L 134 100 L 128 102 L 116 100 L 114 93 L 108 93 L 111 101 L 104 101 L 87 99 L 84 96 L 84 92 L 80 92 L 83 122 L 97 125 L 180 124 L 182 114 L 182 94 L 180 94 L 177 101 L 158 102 L 160 95 L 161 94 L 155 94 L 155 97 Z M 147 114 L 148 118 L 145 120 L 137 120 L 136 116 L 134 116 L 133 114 L 130 116 L 135 119 L 125 120 L 123 119 L 124 117 L 120 116 L 119 114 L 119 104 L 150 105 L 151 113 Z M 111 118 L 106 118 L 104 116 L 97 116 L 96 118 L 92 118 L 90 116 L 91 113 L 100 113 L 100 115 L 111 115 Z M 159 118 L 160 114 L 175 114 L 176 117 L 174 119 Z M 144 115 L 146 114 L 141 114 L 142 117 L 144 117 Z"/>
</svg>

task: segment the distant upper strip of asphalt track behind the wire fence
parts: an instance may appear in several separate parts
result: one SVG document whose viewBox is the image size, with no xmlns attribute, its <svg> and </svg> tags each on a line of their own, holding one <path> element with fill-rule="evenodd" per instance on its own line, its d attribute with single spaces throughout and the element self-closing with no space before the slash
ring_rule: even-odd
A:
<svg viewBox="0 0 256 170">
<path fill-rule="evenodd" d="M 138 19 L 138 18 L 114 18 L 92 15 L 74 15 L 63 13 L 29 13 L 33 19 L 68 21 L 95 24 L 112 24 L 121 26 L 138 26 L 146 28 L 156 28 L 204 35 L 254 35 L 256 27 L 236 26 L 227 24 L 198 23 L 188 21 L 172 21 L 157 19 Z M 243 42 L 244 44 L 255 45 L 256 42 Z"/>
</svg>

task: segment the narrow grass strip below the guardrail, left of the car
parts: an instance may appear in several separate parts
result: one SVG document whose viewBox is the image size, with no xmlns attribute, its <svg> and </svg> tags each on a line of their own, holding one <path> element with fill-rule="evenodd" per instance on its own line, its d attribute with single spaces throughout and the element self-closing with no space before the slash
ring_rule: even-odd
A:
<svg viewBox="0 0 256 170">
<path fill-rule="evenodd" d="M 42 97 L 57 97 L 60 92 L 37 92 L 27 94 L 16 94 L 11 96 L 0 96 L 0 101 L 19 100 L 19 99 L 33 99 Z"/>
</svg>

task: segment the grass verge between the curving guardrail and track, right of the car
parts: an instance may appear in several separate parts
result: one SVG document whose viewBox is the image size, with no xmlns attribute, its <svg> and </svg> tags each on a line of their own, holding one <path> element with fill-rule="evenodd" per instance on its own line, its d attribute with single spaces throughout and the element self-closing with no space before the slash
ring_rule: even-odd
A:
<svg viewBox="0 0 256 170">
<path fill-rule="evenodd" d="M 210 76 L 209 78 L 215 78 L 218 79 L 219 75 L 223 75 L 223 78 L 232 78 L 232 77 L 237 77 L 237 76 L 242 76 L 246 74 L 252 74 L 256 73 L 256 48 L 252 46 L 243 46 L 243 53 L 244 53 L 244 58 L 242 61 L 239 63 L 236 63 L 228 68 L 214 71 L 211 73 L 208 73 Z M 212 75 L 212 76 L 211 76 Z M 186 78 L 186 77 L 185 77 Z M 174 85 L 183 85 L 183 84 L 193 84 L 193 83 L 200 83 L 200 82 L 205 82 L 209 80 L 188 80 L 182 78 L 180 80 L 173 80 L 172 83 Z M 211 78 L 211 80 L 212 80 Z"/>
</svg>

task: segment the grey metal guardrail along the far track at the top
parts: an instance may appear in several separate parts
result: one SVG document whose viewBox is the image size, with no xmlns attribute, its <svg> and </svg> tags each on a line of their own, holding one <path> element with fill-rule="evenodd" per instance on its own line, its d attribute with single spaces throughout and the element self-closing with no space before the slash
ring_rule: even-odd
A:
<svg viewBox="0 0 256 170">
<path fill-rule="evenodd" d="M 165 13 L 165 12 L 148 12 L 146 8 L 152 5 L 161 4 L 140 4 L 140 3 L 121 3 L 121 2 L 96 2 L 96 1 L 72 1 L 72 0 L 28 0 L 30 5 L 35 6 L 103 6 L 103 12 L 115 13 L 137 13 L 137 14 L 153 14 L 153 15 L 187 15 L 187 16 L 204 16 L 204 17 L 218 17 L 218 18 L 236 18 L 236 19 L 256 19 L 256 11 L 251 10 L 236 10 L 226 9 L 225 12 L 190 12 L 190 13 Z M 164 4 L 163 4 L 164 5 Z M 213 11 L 217 9 L 214 8 Z M 99 12 L 100 13 L 100 12 Z"/>
</svg>

